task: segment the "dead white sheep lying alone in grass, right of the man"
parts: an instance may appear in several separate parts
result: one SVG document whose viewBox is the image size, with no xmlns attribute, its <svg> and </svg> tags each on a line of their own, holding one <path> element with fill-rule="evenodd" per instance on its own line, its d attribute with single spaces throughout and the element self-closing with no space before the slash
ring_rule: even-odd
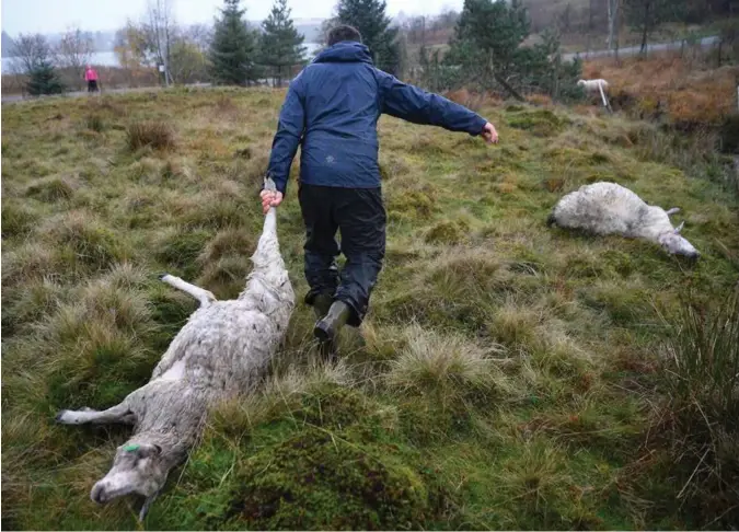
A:
<svg viewBox="0 0 739 532">
<path fill-rule="evenodd" d="M 680 235 L 685 222 L 677 229 L 670 222 L 669 216 L 679 210 L 647 205 L 632 190 L 615 183 L 593 183 L 559 199 L 547 222 L 599 235 L 643 239 L 661 245 L 670 254 L 697 259 L 701 254 Z"/>
</svg>

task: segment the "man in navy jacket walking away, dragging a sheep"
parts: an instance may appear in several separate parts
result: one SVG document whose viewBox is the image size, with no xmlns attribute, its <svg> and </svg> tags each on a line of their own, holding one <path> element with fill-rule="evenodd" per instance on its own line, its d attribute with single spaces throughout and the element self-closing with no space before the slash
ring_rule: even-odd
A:
<svg viewBox="0 0 739 532">
<path fill-rule="evenodd" d="M 314 335 L 322 342 L 344 324 L 361 324 L 382 269 L 386 217 L 377 136 L 382 113 L 498 141 L 495 127 L 472 111 L 374 68 L 354 27 L 331 31 L 328 47 L 290 83 L 269 159 L 277 192 L 261 193 L 265 212 L 281 203 L 302 144 L 298 195 L 307 233 L 305 303 L 315 310 Z M 340 274 L 339 252 L 346 256 Z"/>
</svg>

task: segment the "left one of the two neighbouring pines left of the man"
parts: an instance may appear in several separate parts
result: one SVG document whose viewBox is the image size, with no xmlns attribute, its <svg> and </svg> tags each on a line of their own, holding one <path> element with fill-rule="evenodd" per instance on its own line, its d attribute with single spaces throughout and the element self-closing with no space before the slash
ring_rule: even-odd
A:
<svg viewBox="0 0 739 532">
<path fill-rule="evenodd" d="M 255 35 L 244 21 L 246 10 L 240 8 L 240 0 L 223 0 L 223 3 L 210 46 L 213 82 L 244 85 L 257 79 Z"/>
</svg>

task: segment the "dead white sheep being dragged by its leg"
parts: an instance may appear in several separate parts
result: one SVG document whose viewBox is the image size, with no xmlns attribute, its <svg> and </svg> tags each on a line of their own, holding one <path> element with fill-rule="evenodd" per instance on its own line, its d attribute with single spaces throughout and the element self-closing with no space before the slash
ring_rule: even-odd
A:
<svg viewBox="0 0 739 532">
<path fill-rule="evenodd" d="M 272 180 L 265 187 L 274 189 Z M 208 407 L 257 385 L 285 337 L 295 293 L 277 241 L 277 213 L 267 212 L 246 288 L 235 300 L 164 275 L 162 280 L 200 301 L 154 368 L 151 380 L 106 410 L 61 410 L 62 424 L 124 423 L 134 436 L 116 452 L 111 471 L 91 491 L 96 502 L 127 494 L 146 497 L 139 519 L 184 462 Z"/>
</svg>

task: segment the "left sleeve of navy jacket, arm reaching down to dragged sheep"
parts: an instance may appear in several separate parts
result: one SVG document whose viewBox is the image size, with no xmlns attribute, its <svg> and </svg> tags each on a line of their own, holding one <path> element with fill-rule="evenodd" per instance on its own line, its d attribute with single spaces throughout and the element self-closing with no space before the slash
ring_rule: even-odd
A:
<svg viewBox="0 0 739 532">
<path fill-rule="evenodd" d="M 269 166 L 267 172 L 275 182 L 277 189 L 285 194 L 290 175 L 292 159 L 298 151 L 298 144 L 305 127 L 305 112 L 303 108 L 303 86 L 301 76 L 290 83 L 285 103 L 279 112 L 277 132 L 272 142 Z"/>
</svg>

